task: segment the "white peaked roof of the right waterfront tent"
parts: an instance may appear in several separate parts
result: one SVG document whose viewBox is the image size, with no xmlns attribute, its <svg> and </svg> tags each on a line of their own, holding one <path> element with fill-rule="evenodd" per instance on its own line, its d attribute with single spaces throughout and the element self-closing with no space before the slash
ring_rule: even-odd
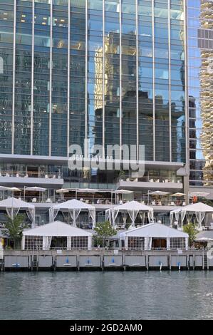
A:
<svg viewBox="0 0 213 335">
<path fill-rule="evenodd" d="M 160 223 L 150 223 L 145 226 L 134 228 L 120 233 L 120 237 L 140 236 L 140 237 L 189 237 L 185 232 L 167 227 Z"/>
</svg>

